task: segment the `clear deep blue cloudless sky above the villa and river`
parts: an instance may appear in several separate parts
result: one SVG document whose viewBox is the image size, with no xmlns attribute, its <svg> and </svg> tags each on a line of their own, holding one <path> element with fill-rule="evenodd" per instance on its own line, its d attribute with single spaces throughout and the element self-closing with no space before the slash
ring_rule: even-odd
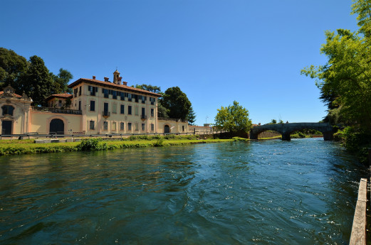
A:
<svg viewBox="0 0 371 245">
<path fill-rule="evenodd" d="M 357 30 L 351 0 L 3 0 L 0 47 L 51 72 L 178 86 L 198 125 L 236 100 L 253 123 L 320 121 L 303 67 L 323 65 L 325 30 Z"/>
</svg>

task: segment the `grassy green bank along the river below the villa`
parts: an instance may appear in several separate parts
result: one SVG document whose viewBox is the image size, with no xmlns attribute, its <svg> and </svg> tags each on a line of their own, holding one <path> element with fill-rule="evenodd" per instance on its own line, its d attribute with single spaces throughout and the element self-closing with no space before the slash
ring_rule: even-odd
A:
<svg viewBox="0 0 371 245">
<path fill-rule="evenodd" d="M 192 143 L 218 143 L 233 139 L 197 139 L 197 136 L 132 136 L 117 141 L 103 141 L 101 138 L 86 138 L 80 142 L 34 143 L 34 140 L 0 141 L 0 156 L 56 153 L 68 151 L 106 151 L 120 148 L 179 146 Z"/>
</svg>

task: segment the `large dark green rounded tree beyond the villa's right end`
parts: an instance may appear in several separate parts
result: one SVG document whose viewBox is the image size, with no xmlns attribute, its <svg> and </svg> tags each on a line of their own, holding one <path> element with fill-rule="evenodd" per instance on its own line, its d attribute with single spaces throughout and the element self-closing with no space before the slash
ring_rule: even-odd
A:
<svg viewBox="0 0 371 245">
<path fill-rule="evenodd" d="M 166 89 L 160 103 L 167 109 L 167 115 L 173 119 L 187 119 L 192 107 L 187 95 L 179 87 Z"/>
</svg>

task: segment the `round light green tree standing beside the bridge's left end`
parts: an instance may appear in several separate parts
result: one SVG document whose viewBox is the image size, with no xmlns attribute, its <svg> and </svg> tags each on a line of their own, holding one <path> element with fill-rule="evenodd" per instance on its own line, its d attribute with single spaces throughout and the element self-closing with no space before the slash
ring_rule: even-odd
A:
<svg viewBox="0 0 371 245">
<path fill-rule="evenodd" d="M 248 132 L 251 129 L 249 111 L 234 101 L 229 107 L 221 107 L 215 116 L 217 130 L 226 130 L 232 133 Z"/>
</svg>

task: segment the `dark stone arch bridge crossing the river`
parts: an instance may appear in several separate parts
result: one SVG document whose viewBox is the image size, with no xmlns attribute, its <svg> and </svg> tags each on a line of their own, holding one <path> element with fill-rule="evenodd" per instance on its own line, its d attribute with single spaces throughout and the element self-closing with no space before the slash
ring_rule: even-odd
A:
<svg viewBox="0 0 371 245">
<path fill-rule="evenodd" d="M 290 141 L 290 134 L 293 131 L 298 131 L 301 129 L 315 129 L 323 134 L 323 139 L 325 141 L 333 140 L 333 127 L 328 123 L 265 124 L 252 128 L 250 131 L 250 138 L 258 139 L 258 135 L 260 133 L 271 130 L 282 134 L 283 141 Z"/>
</svg>

